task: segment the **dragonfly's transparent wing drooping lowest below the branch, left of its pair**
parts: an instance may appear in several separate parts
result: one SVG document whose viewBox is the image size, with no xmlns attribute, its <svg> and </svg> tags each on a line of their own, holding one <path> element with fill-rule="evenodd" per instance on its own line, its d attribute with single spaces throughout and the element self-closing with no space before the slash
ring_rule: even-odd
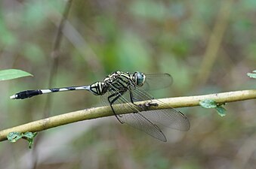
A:
<svg viewBox="0 0 256 169">
<path fill-rule="evenodd" d="M 104 104 L 108 103 L 109 95 L 113 95 L 113 93 L 115 92 L 116 91 L 109 91 L 109 92 L 106 92 L 105 95 L 102 95 L 101 98 L 103 103 Z M 127 93 L 128 92 L 125 92 L 125 95 L 127 95 Z M 120 108 L 117 106 L 117 104 L 124 104 L 124 106 Z M 123 96 L 120 96 L 120 98 L 116 100 L 115 104 L 113 104 L 113 110 L 115 112 L 126 113 L 126 114 L 117 115 L 121 122 L 131 125 L 131 127 L 137 128 L 140 131 L 150 134 L 152 137 L 155 137 L 156 139 L 159 139 L 165 142 L 166 141 L 165 134 L 162 133 L 161 129 L 156 124 L 153 124 L 153 122 L 151 122 L 149 119 L 143 116 L 143 114 L 140 113 L 139 109 L 140 107 L 137 107 L 136 105 L 132 104 Z M 131 111 L 135 113 L 127 113 Z"/>
</svg>

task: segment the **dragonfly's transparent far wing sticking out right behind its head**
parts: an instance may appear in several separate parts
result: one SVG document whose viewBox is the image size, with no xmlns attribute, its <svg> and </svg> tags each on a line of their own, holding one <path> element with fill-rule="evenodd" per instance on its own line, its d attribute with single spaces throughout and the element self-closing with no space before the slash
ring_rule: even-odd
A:
<svg viewBox="0 0 256 169">
<path fill-rule="evenodd" d="M 173 80 L 170 74 L 146 74 L 146 81 L 142 88 L 147 91 L 163 89 L 171 86 L 172 83 Z"/>
</svg>

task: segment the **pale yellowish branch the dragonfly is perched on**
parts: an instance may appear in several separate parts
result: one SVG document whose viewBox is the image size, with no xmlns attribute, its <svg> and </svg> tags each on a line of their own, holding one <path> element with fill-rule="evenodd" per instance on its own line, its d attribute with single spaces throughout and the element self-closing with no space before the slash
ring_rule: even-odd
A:
<svg viewBox="0 0 256 169">
<path fill-rule="evenodd" d="M 161 98 L 158 101 L 164 103 L 159 104 L 158 107 L 150 107 L 150 110 L 160 110 L 167 107 L 193 107 L 198 106 L 199 101 L 205 99 L 213 99 L 216 103 L 224 104 L 233 101 L 244 101 L 248 99 L 256 98 L 256 90 L 242 90 L 236 92 L 221 92 L 210 95 L 196 95 L 187 97 L 177 97 L 177 98 Z M 154 100 L 153 100 L 154 101 Z M 140 103 L 137 103 L 140 104 Z M 116 113 L 122 113 L 122 104 L 116 105 Z M 134 113 L 134 112 L 127 112 Z M 113 112 L 110 107 L 93 107 L 86 110 L 78 110 L 71 113 L 65 113 L 58 116 L 52 116 L 46 119 L 40 119 L 35 122 L 29 122 L 24 125 L 18 125 L 13 128 L 8 128 L 0 131 L 0 141 L 6 140 L 7 134 L 12 131 L 18 131 L 24 133 L 26 131 L 44 131 L 49 128 L 54 128 L 60 125 L 66 125 L 72 122 L 79 122 L 85 119 L 96 119 L 105 116 L 113 116 Z"/>
</svg>

